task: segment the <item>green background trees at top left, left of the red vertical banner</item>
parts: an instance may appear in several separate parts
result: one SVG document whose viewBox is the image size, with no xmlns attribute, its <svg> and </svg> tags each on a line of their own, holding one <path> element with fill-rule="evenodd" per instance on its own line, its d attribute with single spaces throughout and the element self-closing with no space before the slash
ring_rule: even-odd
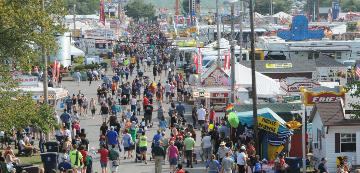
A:
<svg viewBox="0 0 360 173">
<path fill-rule="evenodd" d="M 64 5 L 67 6 L 67 9 L 71 12 L 73 10 L 73 1 L 72 0 L 63 0 Z M 100 2 L 99 0 L 76 0 L 75 1 L 75 12 L 76 15 L 87 15 L 95 14 L 96 11 L 100 11 Z"/>
</svg>

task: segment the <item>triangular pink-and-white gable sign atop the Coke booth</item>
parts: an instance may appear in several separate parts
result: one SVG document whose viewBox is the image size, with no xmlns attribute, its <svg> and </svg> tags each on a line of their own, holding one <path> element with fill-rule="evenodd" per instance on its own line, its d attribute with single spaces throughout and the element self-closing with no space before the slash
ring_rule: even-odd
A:
<svg viewBox="0 0 360 173">
<path fill-rule="evenodd" d="M 201 83 L 201 86 L 231 86 L 231 78 L 221 70 L 219 66 L 215 68 Z"/>
</svg>

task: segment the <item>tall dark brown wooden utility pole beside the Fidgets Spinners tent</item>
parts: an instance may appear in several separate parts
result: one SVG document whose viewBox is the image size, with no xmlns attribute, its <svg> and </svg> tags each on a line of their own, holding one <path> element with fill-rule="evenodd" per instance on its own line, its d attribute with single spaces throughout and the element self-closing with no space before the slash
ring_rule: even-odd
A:
<svg viewBox="0 0 360 173">
<path fill-rule="evenodd" d="M 259 151 L 258 149 L 258 136 L 257 136 L 257 94 L 256 94 L 256 71 L 255 71 L 255 27 L 254 27 L 254 3 L 253 0 L 250 0 L 249 8 L 250 8 L 250 40 L 251 40 L 251 79 L 252 79 L 252 111 L 253 111 L 253 121 L 254 121 L 254 148 L 255 151 Z"/>
</svg>

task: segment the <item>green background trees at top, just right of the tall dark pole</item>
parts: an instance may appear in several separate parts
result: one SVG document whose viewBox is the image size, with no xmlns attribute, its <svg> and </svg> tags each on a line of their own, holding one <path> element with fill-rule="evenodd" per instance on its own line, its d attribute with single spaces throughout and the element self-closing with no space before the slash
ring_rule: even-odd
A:
<svg viewBox="0 0 360 173">
<path fill-rule="evenodd" d="M 275 3 L 275 5 L 273 5 L 274 14 L 279 12 L 287 13 L 291 9 L 291 1 L 284 2 L 282 0 L 273 0 L 273 2 Z M 255 12 L 262 15 L 270 14 L 270 3 L 271 0 L 258 0 L 257 3 L 254 5 Z"/>
</svg>

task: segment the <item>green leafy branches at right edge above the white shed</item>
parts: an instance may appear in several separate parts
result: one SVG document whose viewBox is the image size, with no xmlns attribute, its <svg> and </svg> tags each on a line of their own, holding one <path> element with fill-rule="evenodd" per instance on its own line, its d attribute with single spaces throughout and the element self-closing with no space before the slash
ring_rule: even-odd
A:
<svg viewBox="0 0 360 173">
<path fill-rule="evenodd" d="M 353 91 L 354 93 L 351 93 L 350 96 L 352 98 L 358 98 L 360 99 L 360 82 L 353 80 L 352 82 L 348 82 L 347 86 L 344 87 L 346 91 Z M 352 111 L 350 113 L 350 117 L 352 119 L 360 119 L 360 112 L 354 111 L 354 110 L 360 110 L 360 103 L 349 103 L 349 106 L 352 107 Z"/>
</svg>

